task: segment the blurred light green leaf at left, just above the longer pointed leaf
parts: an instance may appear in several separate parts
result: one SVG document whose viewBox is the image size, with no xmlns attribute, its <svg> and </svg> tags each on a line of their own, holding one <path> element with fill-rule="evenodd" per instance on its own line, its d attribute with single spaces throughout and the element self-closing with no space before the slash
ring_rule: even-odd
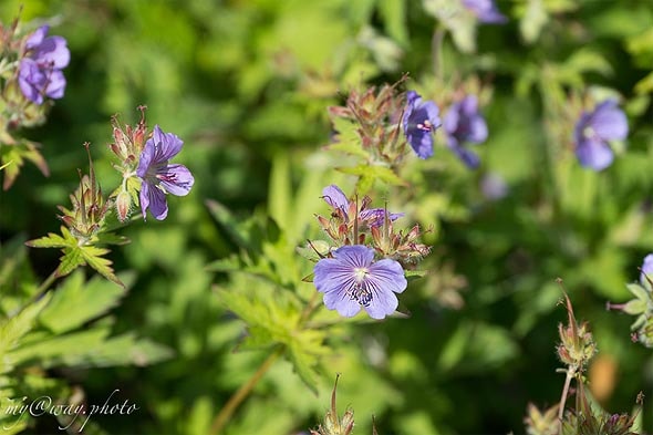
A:
<svg viewBox="0 0 653 435">
<path fill-rule="evenodd" d="M 134 279 L 132 273 L 125 280 L 131 283 Z M 113 286 L 97 277 L 85 283 L 84 273 L 77 271 L 53 292 L 39 321 L 55 334 L 71 331 L 116 307 L 126 291 L 126 287 Z"/>
</svg>

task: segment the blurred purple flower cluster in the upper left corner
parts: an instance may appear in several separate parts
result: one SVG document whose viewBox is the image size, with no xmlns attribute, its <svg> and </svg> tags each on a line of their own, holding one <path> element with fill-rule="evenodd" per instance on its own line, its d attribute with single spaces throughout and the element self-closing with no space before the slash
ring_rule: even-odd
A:
<svg viewBox="0 0 653 435">
<path fill-rule="evenodd" d="M 70 62 L 70 51 L 62 37 L 48 37 L 43 25 L 25 41 L 24 58 L 20 61 L 18 84 L 25 99 L 43 104 L 43 96 L 61 99 L 65 77 L 61 71 Z"/>
</svg>

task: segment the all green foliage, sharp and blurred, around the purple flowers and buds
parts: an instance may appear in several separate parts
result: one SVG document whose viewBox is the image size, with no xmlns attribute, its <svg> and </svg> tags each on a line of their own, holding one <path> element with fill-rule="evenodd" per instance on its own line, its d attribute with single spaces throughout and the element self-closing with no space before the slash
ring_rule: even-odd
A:
<svg viewBox="0 0 653 435">
<path fill-rule="evenodd" d="M 10 398 L 102 404 L 115 387 L 142 410 L 92 420 L 87 432 L 211 433 L 270 354 L 279 358 L 221 433 L 317 428 L 336 372 L 355 433 L 372 433 L 372 415 L 379 433 L 521 433 L 527 404 L 553 404 L 563 384 L 556 277 L 615 361 L 619 376 L 585 373 L 589 387 L 613 386 L 601 410 L 624 413 L 651 390 L 641 345 L 651 292 L 632 283 L 653 250 L 649 2 L 499 0 L 509 22 L 497 25 L 457 0 L 8 0 L 2 23 L 20 3 L 21 21 L 66 38 L 72 63 L 46 123 L 0 141 L 11 185 L 0 193 L 0 424 L 13 433 L 48 432 L 54 418 L 18 421 L 3 412 Z M 432 158 L 407 147 L 393 166 L 360 146 L 355 120 L 330 116 L 352 92 L 404 72 L 397 95 L 418 91 L 440 117 L 462 94 L 479 95 L 489 135 L 473 148 L 477 170 L 442 128 Z M 574 123 L 607 96 L 630 134 L 613 144 L 612 166 L 588 172 Z M 125 237 L 113 211 L 101 230 L 89 220 L 92 235 L 65 221 L 58 230 L 68 191 L 99 191 L 91 175 L 80 183 L 87 163 L 74 144 L 91 142 L 96 179 L 118 185 L 108 120 L 138 104 L 184 139 L 193 191 L 168 196 L 165 221 L 132 220 Z M 401 139 L 398 116 L 385 123 Z M 390 147 L 392 132 L 374 134 Z M 486 196 L 489 175 L 506 182 L 505 197 Z M 310 281 L 329 253 L 315 215 L 329 217 L 320 196 L 330 184 L 405 213 L 397 230 L 424 230 L 433 250 L 406 273 L 404 314 L 375 322 L 324 309 Z M 58 286 L 45 278 L 53 270 Z M 605 312 L 605 300 L 625 313 Z M 557 421 L 549 411 L 528 416 Z M 609 417 L 572 423 L 601 433 Z M 636 418 L 629 431 L 651 432 L 649 414 Z"/>
</svg>

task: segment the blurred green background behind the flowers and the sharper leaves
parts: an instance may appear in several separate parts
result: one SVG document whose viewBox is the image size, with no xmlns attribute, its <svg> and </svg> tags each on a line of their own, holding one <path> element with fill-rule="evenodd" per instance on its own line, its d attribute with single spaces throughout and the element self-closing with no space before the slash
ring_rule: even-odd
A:
<svg viewBox="0 0 653 435">
<path fill-rule="evenodd" d="M 266 356 L 234 352 L 243 325 L 211 290 L 232 278 L 207 265 L 238 247 L 206 201 L 219 201 L 238 220 L 273 210 L 279 198 L 270 172 L 282 162 L 292 191 L 315 188 L 310 200 L 296 203 L 293 213 L 305 216 L 298 221 L 326 213 L 321 188 L 342 179 L 317 153 L 331 134 L 326 107 L 341 104 L 352 86 L 392 83 L 403 72 L 411 74 L 406 87 L 428 90 L 437 20 L 425 4 L 437 1 L 3 0 L 3 23 L 21 3 L 21 20 L 51 23 L 50 34 L 68 39 L 72 60 L 65 97 L 45 125 L 25 132 L 42 144 L 51 176 L 28 165 L 0 193 L 0 238 L 31 239 L 59 228 L 55 206 L 68 204 L 76 169 L 86 167 L 86 141 L 101 183 L 115 186 L 110 118 L 117 113 L 133 124 L 139 104 L 148 107 L 149 125 L 185 141 L 176 162 L 196 179 L 188 197 L 169 197 L 165 221 L 131 225 L 123 234 L 132 244 L 111 255 L 118 272 L 136 272 L 113 311 L 114 330 L 136 330 L 172 348 L 175 358 L 147 367 L 55 373 L 83 386 L 90 403 L 121 389 L 141 406 L 129 416 L 97 416 L 107 433 L 205 434 Z M 527 403 L 556 403 L 563 382 L 554 371 L 557 324 L 566 318 L 556 308 L 557 277 L 564 279 L 577 318 L 590 321 L 595 334 L 602 365 L 589 377 L 607 383 L 603 405 L 629 412 L 638 392 L 653 397 L 651 351 L 631 343 L 631 318 L 604 309 L 607 300 L 629 299 L 624 283 L 638 278 L 653 250 L 653 86 L 641 84 L 653 66 L 653 3 L 498 6 L 510 22 L 478 27 L 474 52 L 444 40 L 448 74 L 478 74 L 494 86 L 484 107 L 490 138 L 479 147 L 477 173 L 440 149 L 436 162 L 410 177 L 421 185 L 406 211 L 436 226 L 426 236 L 435 244 L 425 263 L 433 273 L 402 298 L 412 317 L 340 327 L 333 371 L 320 380 L 318 396 L 288 362 L 277 362 L 226 433 L 314 427 L 336 371 L 339 403 L 354 408 L 355 433 L 370 434 L 373 415 L 383 434 L 522 433 Z M 547 170 L 554 158 L 547 152 L 556 137 L 550 124 L 560 121 L 551 107 L 563 104 L 557 92 L 590 84 L 625 96 L 628 151 L 601 174 L 569 158 Z M 507 182 L 508 197 L 483 198 L 486 174 Z M 292 238 L 314 236 L 312 227 L 298 228 Z M 30 250 L 29 257 L 40 280 L 59 253 Z M 297 262 L 310 272 L 310 263 Z M 651 410 L 649 398 L 649 432 Z M 45 418 L 37 428 L 50 429 Z"/>
</svg>

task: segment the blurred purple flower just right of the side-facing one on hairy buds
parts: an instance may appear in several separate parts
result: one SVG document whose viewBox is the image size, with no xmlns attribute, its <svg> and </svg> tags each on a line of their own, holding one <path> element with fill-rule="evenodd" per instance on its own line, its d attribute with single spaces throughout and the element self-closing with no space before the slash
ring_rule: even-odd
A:
<svg viewBox="0 0 653 435">
<path fill-rule="evenodd" d="M 447 145 L 467 167 L 478 167 L 476 154 L 465 148 L 463 143 L 480 144 L 487 139 L 487 124 L 478 112 L 478 100 L 474 95 L 452 104 L 444 118 Z"/>
</svg>

